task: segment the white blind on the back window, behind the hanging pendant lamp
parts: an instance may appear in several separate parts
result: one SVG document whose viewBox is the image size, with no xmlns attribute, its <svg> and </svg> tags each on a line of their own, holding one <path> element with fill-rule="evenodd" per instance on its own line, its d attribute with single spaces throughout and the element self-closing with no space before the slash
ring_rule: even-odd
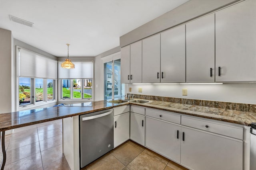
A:
<svg viewBox="0 0 256 170">
<path fill-rule="evenodd" d="M 59 79 L 93 78 L 93 61 L 72 61 L 75 64 L 74 69 L 62 68 L 62 62 L 64 61 L 58 61 Z"/>
</svg>

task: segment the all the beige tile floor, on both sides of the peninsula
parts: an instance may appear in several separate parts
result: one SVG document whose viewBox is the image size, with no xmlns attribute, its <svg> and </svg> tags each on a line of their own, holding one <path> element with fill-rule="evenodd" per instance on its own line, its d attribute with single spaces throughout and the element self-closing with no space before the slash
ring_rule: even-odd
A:
<svg viewBox="0 0 256 170">
<path fill-rule="evenodd" d="M 4 170 L 70 170 L 62 154 L 62 120 L 14 129 L 6 135 Z M 0 149 L 0 160 L 2 150 Z M 186 168 L 127 141 L 83 170 L 186 170 Z"/>
</svg>

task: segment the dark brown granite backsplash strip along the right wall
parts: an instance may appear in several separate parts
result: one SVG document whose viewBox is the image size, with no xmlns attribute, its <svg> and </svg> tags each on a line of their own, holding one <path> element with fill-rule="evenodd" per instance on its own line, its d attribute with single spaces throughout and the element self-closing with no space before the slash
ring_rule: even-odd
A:
<svg viewBox="0 0 256 170">
<path fill-rule="evenodd" d="M 127 95 L 132 96 L 133 94 L 128 93 Z M 162 102 L 180 103 L 180 104 L 190 104 L 190 105 L 196 105 L 196 106 L 216 107 L 216 108 L 220 108 L 220 109 L 231 109 L 231 110 L 238 110 L 238 111 L 256 112 L 255 104 L 242 104 L 242 103 L 218 102 L 218 101 L 210 101 L 210 100 L 172 98 L 172 97 L 150 96 L 150 95 L 141 95 L 141 94 L 134 94 L 134 98 L 156 100 L 156 101 L 162 101 Z"/>
</svg>

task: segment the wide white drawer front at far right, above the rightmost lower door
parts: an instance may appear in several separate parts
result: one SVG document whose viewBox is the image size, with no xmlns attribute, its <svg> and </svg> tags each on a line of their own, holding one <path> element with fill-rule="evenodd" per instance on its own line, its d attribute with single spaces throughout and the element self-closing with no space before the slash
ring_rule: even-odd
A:
<svg viewBox="0 0 256 170">
<path fill-rule="evenodd" d="M 205 118 L 181 116 L 181 124 L 208 132 L 243 140 L 243 127 Z"/>
</svg>

